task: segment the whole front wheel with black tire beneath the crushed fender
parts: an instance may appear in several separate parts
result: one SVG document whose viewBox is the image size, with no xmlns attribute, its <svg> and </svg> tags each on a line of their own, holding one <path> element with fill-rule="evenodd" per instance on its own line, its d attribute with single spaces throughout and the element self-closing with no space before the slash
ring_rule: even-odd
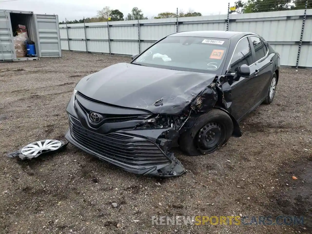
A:
<svg viewBox="0 0 312 234">
<path fill-rule="evenodd" d="M 212 109 L 199 116 L 193 127 L 181 134 L 180 149 L 190 156 L 210 154 L 228 141 L 233 129 L 232 119 L 226 112 Z"/>
</svg>

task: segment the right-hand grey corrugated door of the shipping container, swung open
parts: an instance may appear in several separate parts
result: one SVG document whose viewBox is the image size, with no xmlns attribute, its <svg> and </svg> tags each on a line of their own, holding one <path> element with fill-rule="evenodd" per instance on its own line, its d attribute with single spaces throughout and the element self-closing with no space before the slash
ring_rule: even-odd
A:
<svg viewBox="0 0 312 234">
<path fill-rule="evenodd" d="M 37 29 L 38 55 L 42 58 L 61 57 L 61 40 L 57 15 L 34 15 Z"/>
</svg>

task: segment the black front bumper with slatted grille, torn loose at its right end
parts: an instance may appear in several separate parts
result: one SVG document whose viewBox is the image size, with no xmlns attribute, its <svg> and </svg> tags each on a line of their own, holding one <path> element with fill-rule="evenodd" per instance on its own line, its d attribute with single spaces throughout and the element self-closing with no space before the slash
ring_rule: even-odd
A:
<svg viewBox="0 0 312 234">
<path fill-rule="evenodd" d="M 156 142 L 145 136 L 153 130 L 144 130 L 145 135 L 141 136 L 138 133 L 142 131 L 132 129 L 129 129 L 128 134 L 127 131 L 102 134 L 81 123 L 78 116 L 83 113 L 78 116 L 75 114 L 76 111 L 81 112 L 78 105 L 75 110 L 70 105 L 66 108 L 69 130 L 65 137 L 71 144 L 135 174 L 171 177 L 185 172 L 173 153 L 165 154 Z"/>
</svg>

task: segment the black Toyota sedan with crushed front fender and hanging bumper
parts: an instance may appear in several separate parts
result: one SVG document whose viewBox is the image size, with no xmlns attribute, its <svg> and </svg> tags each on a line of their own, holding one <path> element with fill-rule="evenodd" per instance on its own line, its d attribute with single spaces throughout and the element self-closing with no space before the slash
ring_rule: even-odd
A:
<svg viewBox="0 0 312 234">
<path fill-rule="evenodd" d="M 172 147 L 209 154 L 240 137 L 239 122 L 273 101 L 280 69 L 279 54 L 247 32 L 178 32 L 132 58 L 78 82 L 66 139 L 150 176 L 185 172 Z"/>
</svg>

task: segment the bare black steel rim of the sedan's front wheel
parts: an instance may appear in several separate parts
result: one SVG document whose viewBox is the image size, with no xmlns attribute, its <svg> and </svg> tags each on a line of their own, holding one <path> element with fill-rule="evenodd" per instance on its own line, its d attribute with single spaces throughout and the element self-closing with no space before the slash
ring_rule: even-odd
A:
<svg viewBox="0 0 312 234">
<path fill-rule="evenodd" d="M 218 123 L 209 123 L 200 129 L 198 134 L 198 147 L 202 150 L 208 150 L 218 147 L 221 141 L 222 128 Z"/>
</svg>

